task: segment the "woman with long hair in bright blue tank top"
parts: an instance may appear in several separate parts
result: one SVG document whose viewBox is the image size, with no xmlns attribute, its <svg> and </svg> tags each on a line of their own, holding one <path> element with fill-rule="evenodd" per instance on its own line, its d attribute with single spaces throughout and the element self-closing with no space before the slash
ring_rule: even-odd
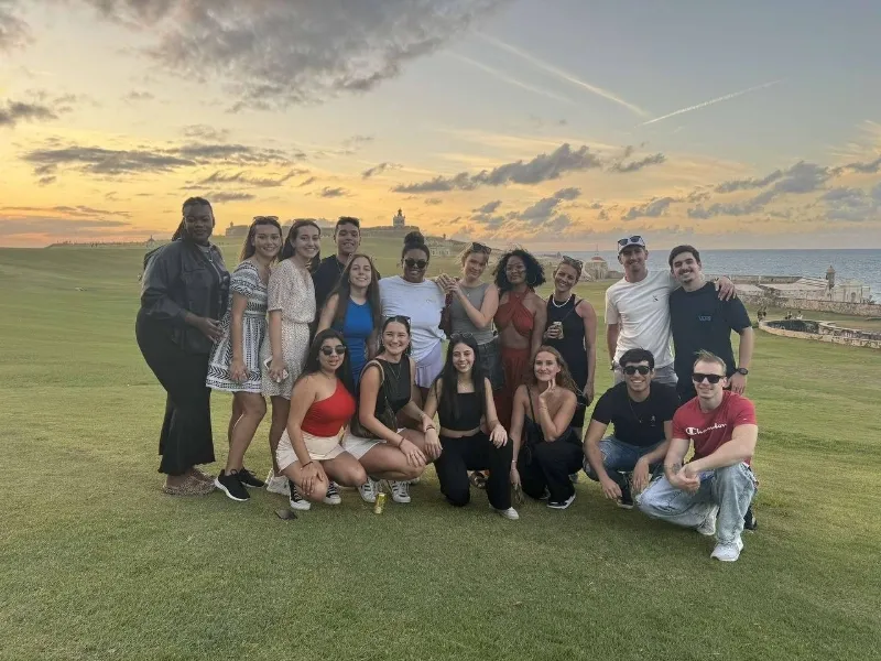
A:
<svg viewBox="0 0 881 661">
<path fill-rule="evenodd" d="M 376 355 L 377 329 L 382 323 L 379 284 L 374 275 L 373 261 L 367 254 L 352 254 L 318 319 L 318 333 L 325 328 L 342 333 L 356 384 L 365 365 Z"/>
</svg>

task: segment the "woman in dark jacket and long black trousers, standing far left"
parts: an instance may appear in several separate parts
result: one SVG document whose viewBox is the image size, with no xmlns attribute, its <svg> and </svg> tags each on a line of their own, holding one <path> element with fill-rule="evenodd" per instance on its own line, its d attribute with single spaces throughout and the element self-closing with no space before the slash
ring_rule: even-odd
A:
<svg viewBox="0 0 881 661">
<path fill-rule="evenodd" d="M 196 496 L 214 490 L 214 478 L 196 466 L 214 458 L 208 358 L 222 335 L 218 319 L 229 294 L 229 272 L 208 239 L 214 212 L 191 197 L 172 242 L 144 257 L 141 308 L 134 326 L 146 365 L 165 389 L 159 472 L 163 491 Z"/>
</svg>

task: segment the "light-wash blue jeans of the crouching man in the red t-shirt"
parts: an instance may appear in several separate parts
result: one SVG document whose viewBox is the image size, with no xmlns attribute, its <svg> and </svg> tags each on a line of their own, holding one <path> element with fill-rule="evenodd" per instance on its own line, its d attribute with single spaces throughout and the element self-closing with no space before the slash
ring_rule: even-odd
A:
<svg viewBox="0 0 881 661">
<path fill-rule="evenodd" d="M 662 475 L 637 497 L 637 505 L 652 519 L 685 528 L 697 528 L 718 506 L 716 538 L 721 544 L 732 544 L 743 532 L 743 517 L 757 486 L 750 467 L 739 463 L 701 473 L 695 494 L 677 489 Z"/>
</svg>

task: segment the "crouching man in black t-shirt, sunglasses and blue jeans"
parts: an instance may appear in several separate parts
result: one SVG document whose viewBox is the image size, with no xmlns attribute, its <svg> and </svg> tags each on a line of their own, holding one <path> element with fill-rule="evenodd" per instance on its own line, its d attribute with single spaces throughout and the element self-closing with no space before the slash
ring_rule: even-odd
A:
<svg viewBox="0 0 881 661">
<path fill-rule="evenodd" d="M 585 436 L 585 473 L 599 481 L 607 498 L 631 509 L 632 488 L 642 491 L 667 453 L 673 414 L 679 405 L 676 388 L 653 383 L 654 356 L 629 349 L 619 361 L 624 380 L 607 390 L 594 409 Z M 614 425 L 614 434 L 603 434 Z"/>
</svg>

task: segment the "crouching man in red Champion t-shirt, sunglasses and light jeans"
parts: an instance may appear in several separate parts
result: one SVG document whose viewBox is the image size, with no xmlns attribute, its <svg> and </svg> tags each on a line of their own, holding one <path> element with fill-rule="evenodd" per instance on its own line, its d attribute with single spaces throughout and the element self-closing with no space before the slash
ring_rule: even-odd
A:
<svg viewBox="0 0 881 661">
<path fill-rule="evenodd" d="M 758 484 L 750 460 L 759 427 L 752 402 L 725 390 L 725 360 L 709 351 L 698 354 L 692 375 L 697 397 L 673 415 L 664 475 L 638 502 L 653 519 L 716 534 L 710 557 L 735 562 L 743 549 L 743 517 Z M 695 454 L 685 464 L 692 442 Z"/>
</svg>

